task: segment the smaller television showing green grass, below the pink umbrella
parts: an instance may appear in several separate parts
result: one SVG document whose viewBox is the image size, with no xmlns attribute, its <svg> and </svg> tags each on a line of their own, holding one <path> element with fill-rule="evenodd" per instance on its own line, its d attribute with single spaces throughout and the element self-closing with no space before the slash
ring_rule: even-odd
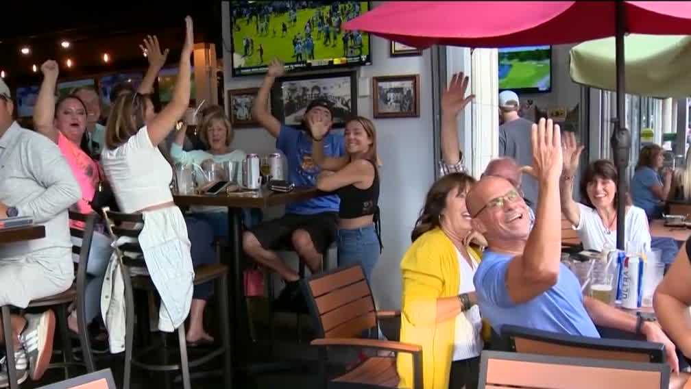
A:
<svg viewBox="0 0 691 389">
<path fill-rule="evenodd" d="M 499 90 L 549 92 L 552 88 L 551 46 L 499 49 Z"/>
</svg>

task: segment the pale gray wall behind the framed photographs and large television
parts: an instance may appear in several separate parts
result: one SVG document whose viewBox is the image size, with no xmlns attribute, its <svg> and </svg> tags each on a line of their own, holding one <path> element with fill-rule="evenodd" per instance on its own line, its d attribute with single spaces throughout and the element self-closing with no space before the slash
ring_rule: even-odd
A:
<svg viewBox="0 0 691 389">
<path fill-rule="evenodd" d="M 375 2 L 373 6 L 377 6 Z M 223 64 L 225 90 L 252 88 L 261 84 L 261 77 L 232 78 L 228 2 L 223 4 Z M 420 117 L 379 119 L 377 142 L 383 166 L 381 174 L 382 240 L 384 252 L 372 279 L 372 289 L 380 309 L 397 309 L 401 305 L 401 273 L 399 263 L 410 246 L 410 231 L 424 202 L 427 189 L 434 180 L 435 161 L 432 142 L 432 104 L 430 96 L 431 66 L 429 50 L 421 57 L 389 57 L 389 41 L 372 37 L 372 65 L 358 70 L 359 84 L 369 85 L 379 75 L 420 75 Z M 364 89 L 364 88 L 361 88 Z M 359 91 L 362 94 L 362 91 Z M 226 93 L 227 95 L 227 93 Z M 372 118 L 371 95 L 358 98 L 359 115 Z M 263 129 L 239 129 L 234 147 L 247 152 L 270 153 L 275 140 Z"/>
</svg>

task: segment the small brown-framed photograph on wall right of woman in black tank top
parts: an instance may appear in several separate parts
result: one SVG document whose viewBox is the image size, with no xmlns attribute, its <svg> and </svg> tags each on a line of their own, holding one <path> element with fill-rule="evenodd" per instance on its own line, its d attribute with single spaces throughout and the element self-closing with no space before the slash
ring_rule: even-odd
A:
<svg viewBox="0 0 691 389">
<path fill-rule="evenodd" d="M 374 117 L 419 117 L 420 75 L 372 77 Z"/>
</svg>

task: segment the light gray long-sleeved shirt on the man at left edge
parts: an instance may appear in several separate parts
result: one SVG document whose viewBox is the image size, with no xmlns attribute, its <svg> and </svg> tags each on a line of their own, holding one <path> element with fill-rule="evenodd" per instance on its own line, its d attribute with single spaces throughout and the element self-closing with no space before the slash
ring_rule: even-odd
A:
<svg viewBox="0 0 691 389">
<path fill-rule="evenodd" d="M 0 258 L 64 248 L 71 261 L 67 209 L 80 198 L 82 190 L 57 144 L 12 123 L 0 137 L 0 202 L 44 225 L 46 237 L 0 245 Z"/>
</svg>

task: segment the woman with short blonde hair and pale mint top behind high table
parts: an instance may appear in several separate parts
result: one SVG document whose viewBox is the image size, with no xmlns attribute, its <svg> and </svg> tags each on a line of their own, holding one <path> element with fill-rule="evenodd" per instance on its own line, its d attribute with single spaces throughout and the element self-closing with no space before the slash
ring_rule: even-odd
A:
<svg viewBox="0 0 691 389">
<path fill-rule="evenodd" d="M 176 133 L 175 142 L 171 145 L 171 159 L 175 163 L 187 164 L 207 164 L 222 162 L 238 162 L 238 167 L 245 159 L 245 151 L 233 150 L 230 144 L 233 142 L 234 130 L 230 120 L 226 117 L 223 109 L 218 106 L 210 106 L 202 111 L 204 114 L 200 119 L 199 135 L 207 146 L 206 150 L 184 151 L 185 132 L 187 125 Z M 242 182 L 242 171 L 238 169 L 237 180 Z M 232 180 L 233 178 L 231 178 Z M 192 206 L 190 211 L 193 216 L 206 220 L 214 227 L 216 236 L 228 237 L 228 214 L 226 207 Z"/>
</svg>

